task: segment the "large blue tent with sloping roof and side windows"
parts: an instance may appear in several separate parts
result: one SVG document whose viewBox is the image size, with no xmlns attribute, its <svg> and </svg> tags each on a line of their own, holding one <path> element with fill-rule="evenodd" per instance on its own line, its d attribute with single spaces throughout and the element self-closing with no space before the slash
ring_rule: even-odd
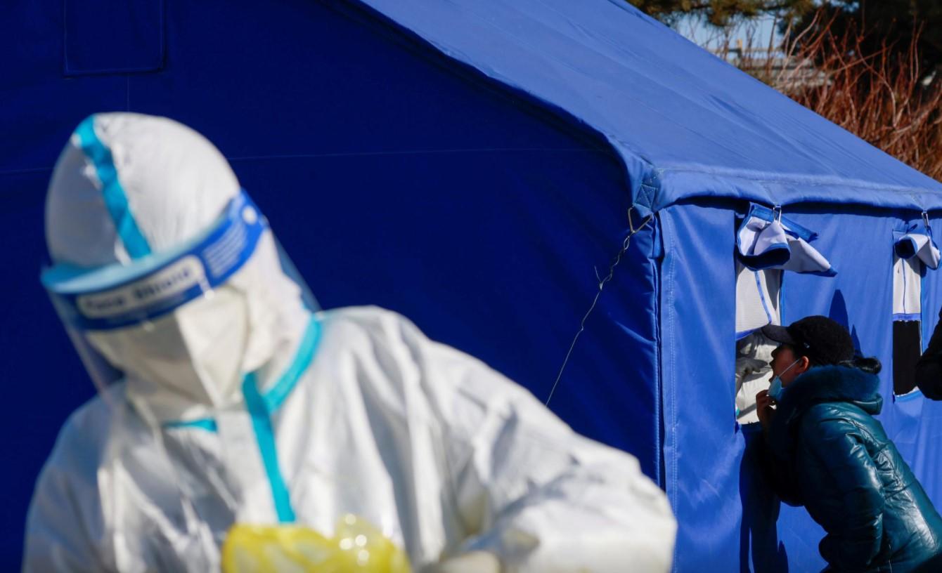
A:
<svg viewBox="0 0 942 573">
<path fill-rule="evenodd" d="M 894 231 L 942 185 L 622 0 L 14 0 L 0 193 L 8 470 L 0 561 L 67 414 L 92 393 L 41 292 L 51 169 L 89 113 L 213 140 L 325 307 L 379 304 L 635 454 L 680 523 L 678 571 L 820 567 L 734 417 L 736 230 L 817 232 L 836 276 L 785 273 L 781 320 L 830 314 L 885 364 L 881 415 L 936 502 L 942 404 L 893 393 Z M 905 230 L 905 229 L 903 229 Z M 810 235 L 806 235 L 810 239 Z M 922 341 L 942 306 L 922 269 Z M 6 565 L 5 565 L 6 568 Z"/>
</svg>

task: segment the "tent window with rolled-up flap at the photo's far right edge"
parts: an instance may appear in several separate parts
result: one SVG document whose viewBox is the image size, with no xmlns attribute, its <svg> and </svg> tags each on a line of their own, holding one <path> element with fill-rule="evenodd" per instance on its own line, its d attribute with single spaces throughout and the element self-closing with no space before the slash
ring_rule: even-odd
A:
<svg viewBox="0 0 942 573">
<path fill-rule="evenodd" d="M 893 393 L 916 389 L 916 362 L 922 354 L 922 278 L 939 265 L 928 217 L 893 231 Z"/>
</svg>

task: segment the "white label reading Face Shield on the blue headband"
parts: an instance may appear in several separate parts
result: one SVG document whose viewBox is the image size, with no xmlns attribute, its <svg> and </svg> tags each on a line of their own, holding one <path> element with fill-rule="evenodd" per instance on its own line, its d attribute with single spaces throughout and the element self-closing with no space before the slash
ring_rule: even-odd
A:
<svg viewBox="0 0 942 573">
<path fill-rule="evenodd" d="M 83 294 L 75 303 L 88 318 L 110 318 L 153 306 L 205 282 L 203 263 L 188 256 L 144 279 L 105 293 Z"/>
</svg>

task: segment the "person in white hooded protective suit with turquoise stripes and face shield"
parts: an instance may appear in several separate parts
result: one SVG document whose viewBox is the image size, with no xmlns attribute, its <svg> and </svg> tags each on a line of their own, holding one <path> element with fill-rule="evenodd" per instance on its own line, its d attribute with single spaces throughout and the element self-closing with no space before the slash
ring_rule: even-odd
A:
<svg viewBox="0 0 942 573">
<path fill-rule="evenodd" d="M 317 311 L 223 156 L 99 114 L 50 183 L 42 281 L 99 394 L 62 428 L 26 571 L 219 570 L 236 524 L 363 517 L 414 571 L 667 571 L 629 454 L 378 308 Z"/>
</svg>

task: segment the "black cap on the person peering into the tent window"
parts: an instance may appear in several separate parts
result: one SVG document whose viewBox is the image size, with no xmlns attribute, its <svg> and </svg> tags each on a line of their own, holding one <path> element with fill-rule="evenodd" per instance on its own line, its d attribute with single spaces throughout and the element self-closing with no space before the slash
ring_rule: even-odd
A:
<svg viewBox="0 0 942 573">
<path fill-rule="evenodd" d="M 806 316 L 788 326 L 763 326 L 762 334 L 794 347 L 795 352 L 814 364 L 839 364 L 854 354 L 847 328 L 826 316 Z"/>
</svg>

